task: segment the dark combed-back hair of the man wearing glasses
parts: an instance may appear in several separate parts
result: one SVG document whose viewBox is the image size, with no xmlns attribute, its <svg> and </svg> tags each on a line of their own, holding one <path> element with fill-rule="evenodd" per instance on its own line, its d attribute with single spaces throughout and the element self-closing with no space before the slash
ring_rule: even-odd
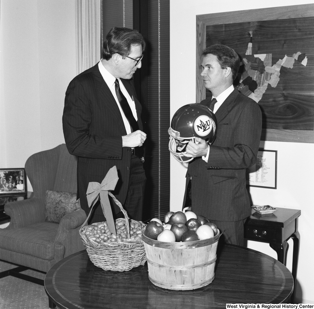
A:
<svg viewBox="0 0 314 309">
<path fill-rule="evenodd" d="M 102 45 L 102 57 L 109 60 L 114 54 L 128 56 L 132 45 L 142 45 L 142 52 L 145 50 L 145 41 L 137 30 L 113 27 Z"/>
</svg>

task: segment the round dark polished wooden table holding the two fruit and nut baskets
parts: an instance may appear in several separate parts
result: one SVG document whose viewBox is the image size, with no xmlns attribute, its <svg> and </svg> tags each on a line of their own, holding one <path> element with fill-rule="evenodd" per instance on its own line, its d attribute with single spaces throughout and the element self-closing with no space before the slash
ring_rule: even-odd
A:
<svg viewBox="0 0 314 309">
<path fill-rule="evenodd" d="M 280 262 L 234 245 L 218 246 L 215 279 L 187 291 L 165 290 L 148 279 L 147 264 L 129 271 L 105 271 L 87 252 L 74 253 L 45 277 L 48 297 L 60 308 L 226 308 L 226 303 L 282 303 L 290 299 L 293 277 Z"/>
</svg>

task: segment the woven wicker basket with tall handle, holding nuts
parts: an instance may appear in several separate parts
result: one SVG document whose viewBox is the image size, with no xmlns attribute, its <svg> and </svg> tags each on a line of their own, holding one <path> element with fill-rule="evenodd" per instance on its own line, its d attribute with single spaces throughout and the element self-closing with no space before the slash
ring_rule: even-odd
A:
<svg viewBox="0 0 314 309">
<path fill-rule="evenodd" d="M 86 248 L 89 259 L 95 266 L 104 270 L 124 271 L 130 270 L 139 265 L 144 265 L 146 261 L 146 254 L 143 241 L 130 239 L 130 224 L 127 212 L 123 209 L 121 203 L 113 194 L 111 194 L 111 192 L 108 192 L 108 194 L 120 207 L 125 217 L 125 219 L 117 219 L 116 223 L 119 221 L 125 222 L 127 240 L 124 242 L 96 242 L 89 239 L 85 235 L 85 231 L 89 226 L 83 226 L 79 230 L 79 234 Z M 140 222 L 142 227 L 145 226 L 145 224 L 141 221 L 131 220 L 131 222 Z M 99 223 L 93 223 L 92 225 L 98 225 Z"/>
</svg>

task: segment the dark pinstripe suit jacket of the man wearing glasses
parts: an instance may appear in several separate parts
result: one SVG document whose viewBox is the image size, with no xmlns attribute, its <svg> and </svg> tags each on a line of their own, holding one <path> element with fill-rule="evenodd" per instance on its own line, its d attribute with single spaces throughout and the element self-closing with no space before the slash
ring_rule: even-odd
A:
<svg viewBox="0 0 314 309">
<path fill-rule="evenodd" d="M 136 99 L 133 82 L 121 80 L 127 92 L 134 97 L 138 126 L 143 130 L 142 107 Z M 89 211 L 86 199 L 89 182 L 101 183 L 114 165 L 119 181 L 112 193 L 123 205 L 129 183 L 131 149 L 122 147 L 122 136 L 127 132 L 116 100 L 101 76 L 98 64 L 70 82 L 65 95 L 62 123 L 68 151 L 78 156 L 78 196 L 82 209 Z M 97 207 L 95 214 L 103 214 L 101 207 Z"/>
</svg>

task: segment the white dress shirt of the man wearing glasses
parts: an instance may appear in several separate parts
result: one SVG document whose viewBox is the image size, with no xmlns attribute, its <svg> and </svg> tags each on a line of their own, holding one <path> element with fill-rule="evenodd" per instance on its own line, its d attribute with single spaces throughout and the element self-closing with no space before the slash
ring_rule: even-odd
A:
<svg viewBox="0 0 314 309">
<path fill-rule="evenodd" d="M 119 100 L 117 98 L 116 95 L 116 88 L 115 88 L 115 81 L 116 81 L 116 77 L 114 77 L 113 75 L 111 75 L 111 73 L 109 73 L 106 68 L 102 65 L 101 60 L 98 62 L 98 68 L 100 71 L 101 76 L 103 77 L 103 79 L 105 80 L 106 84 L 108 85 L 113 97 L 116 99 L 116 103 L 120 109 L 120 113 L 123 119 L 123 123 L 125 126 L 125 130 L 127 131 L 127 134 L 131 133 L 131 127 L 129 124 L 129 121 L 127 120 L 127 117 L 124 115 L 123 109 L 119 103 Z M 135 107 L 135 103 L 134 103 L 134 99 L 133 96 L 132 98 L 130 97 L 129 93 L 127 92 L 127 90 L 124 88 L 123 83 L 120 81 L 120 78 L 118 78 L 119 81 L 119 85 L 120 85 L 120 89 L 123 93 L 123 95 L 126 97 L 127 99 L 127 103 L 130 105 L 132 114 L 135 118 L 135 120 L 137 121 L 137 113 L 136 113 L 136 107 Z"/>
</svg>

